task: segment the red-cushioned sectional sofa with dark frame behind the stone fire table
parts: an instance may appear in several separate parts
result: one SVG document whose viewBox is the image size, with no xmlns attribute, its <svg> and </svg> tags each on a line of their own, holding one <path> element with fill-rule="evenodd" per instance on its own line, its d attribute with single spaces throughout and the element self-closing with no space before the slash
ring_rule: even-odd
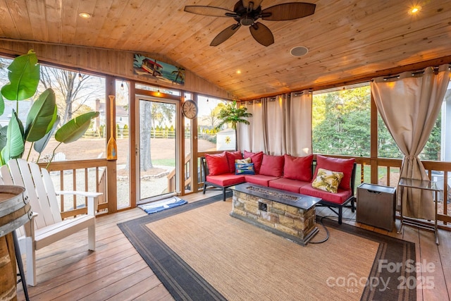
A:
<svg viewBox="0 0 451 301">
<path fill-rule="evenodd" d="M 254 174 L 235 174 L 235 160 L 250 158 Z M 340 159 L 330 156 L 295 157 L 288 154 L 273 156 L 263 152 L 223 152 L 206 154 L 201 158 L 204 168 L 204 193 L 208 186 L 223 191 L 223 200 L 230 186 L 240 183 L 253 183 L 266 187 L 320 197 L 319 205 L 327 206 L 333 211 L 338 209 L 338 223 L 342 223 L 342 208 L 351 203 L 354 212 L 355 160 Z M 320 168 L 342 173 L 336 192 L 314 188 L 312 183 L 317 178 Z M 321 172 L 321 171 L 320 171 Z"/>
</svg>

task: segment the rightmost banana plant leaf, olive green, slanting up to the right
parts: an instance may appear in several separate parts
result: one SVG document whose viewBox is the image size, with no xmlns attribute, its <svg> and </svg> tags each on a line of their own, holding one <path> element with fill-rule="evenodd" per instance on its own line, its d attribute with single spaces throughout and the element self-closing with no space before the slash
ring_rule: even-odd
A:
<svg viewBox="0 0 451 301">
<path fill-rule="evenodd" d="M 74 142 L 89 128 L 91 120 L 99 116 L 99 112 L 84 113 L 68 121 L 65 125 L 58 128 L 55 133 L 55 140 L 63 143 Z"/>
</svg>

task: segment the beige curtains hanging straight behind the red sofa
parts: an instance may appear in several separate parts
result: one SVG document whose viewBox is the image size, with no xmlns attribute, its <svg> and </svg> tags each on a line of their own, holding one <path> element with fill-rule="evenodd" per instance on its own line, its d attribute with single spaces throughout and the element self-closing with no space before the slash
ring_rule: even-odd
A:
<svg viewBox="0 0 451 301">
<path fill-rule="evenodd" d="M 238 125 L 238 148 L 266 154 L 311 154 L 309 91 L 283 94 L 243 103 L 252 113 L 250 125 Z"/>
</svg>

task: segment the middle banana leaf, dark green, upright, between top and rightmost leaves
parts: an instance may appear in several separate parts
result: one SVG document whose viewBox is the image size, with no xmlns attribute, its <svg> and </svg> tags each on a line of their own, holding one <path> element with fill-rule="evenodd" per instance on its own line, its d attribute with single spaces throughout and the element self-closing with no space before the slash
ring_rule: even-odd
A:
<svg viewBox="0 0 451 301">
<path fill-rule="evenodd" d="M 49 133 L 56 120 L 57 110 L 54 90 L 49 88 L 42 92 L 27 115 L 25 140 L 35 142 Z"/>
</svg>

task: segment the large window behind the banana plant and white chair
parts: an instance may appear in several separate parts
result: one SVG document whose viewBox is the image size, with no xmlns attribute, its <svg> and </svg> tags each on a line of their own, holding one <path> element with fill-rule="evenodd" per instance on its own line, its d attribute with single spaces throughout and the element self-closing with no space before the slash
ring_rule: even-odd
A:
<svg viewBox="0 0 451 301">
<path fill-rule="evenodd" d="M 0 84 L 5 85 L 8 80 L 7 67 L 11 59 L 0 58 Z M 11 118 L 12 109 L 18 111 L 18 116 L 25 126 L 27 113 L 32 102 L 47 89 L 51 87 L 56 95 L 56 105 L 58 116 L 61 121 L 59 126 L 67 123 L 70 119 L 87 113 L 88 111 L 100 111 L 100 116 L 95 118 L 85 135 L 75 142 L 61 144 L 51 137 L 47 147 L 39 155 L 32 147 L 31 142 L 25 144 L 24 158 L 28 161 L 48 161 L 55 150 L 56 160 L 81 160 L 96 159 L 104 156 L 105 152 L 105 80 L 94 75 L 80 74 L 61 68 L 41 66 L 41 80 L 37 89 L 37 94 L 31 99 L 16 101 L 5 101 L 4 114 L 0 116 L 0 124 L 7 125 Z M 18 105 L 18 107 L 17 107 Z M 18 108 L 18 109 L 17 109 Z M 30 153 L 30 156 L 28 154 Z"/>
</svg>

